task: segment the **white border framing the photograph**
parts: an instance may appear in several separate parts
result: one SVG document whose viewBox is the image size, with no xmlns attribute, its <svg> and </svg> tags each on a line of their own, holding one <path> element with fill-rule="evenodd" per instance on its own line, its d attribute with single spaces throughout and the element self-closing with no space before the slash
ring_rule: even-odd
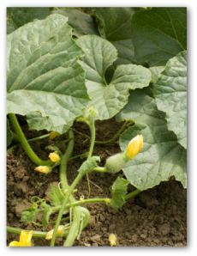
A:
<svg viewBox="0 0 197 256">
<path fill-rule="evenodd" d="M 197 149 L 197 1 L 196 0 L 135 0 L 135 1 L 114 1 L 114 0 L 95 0 L 95 1 L 65 1 L 65 0 L 0 0 L 0 249 L 3 255 L 34 255 L 35 253 L 47 253 L 53 255 L 65 255 L 66 253 L 79 253 L 80 255 L 100 255 L 100 253 L 113 253 L 119 255 L 194 255 L 197 252 L 197 168 L 196 155 Z M 113 247 L 113 248 L 8 248 L 5 245 L 5 226 L 6 226 L 6 132 L 5 132 L 5 91 L 6 91 L 6 68 L 5 68 L 5 34 L 6 34 L 6 7 L 9 6 L 186 6 L 188 7 L 188 247 L 183 248 L 164 248 L 164 247 Z M 28 251 L 27 251 L 28 250 Z"/>
</svg>

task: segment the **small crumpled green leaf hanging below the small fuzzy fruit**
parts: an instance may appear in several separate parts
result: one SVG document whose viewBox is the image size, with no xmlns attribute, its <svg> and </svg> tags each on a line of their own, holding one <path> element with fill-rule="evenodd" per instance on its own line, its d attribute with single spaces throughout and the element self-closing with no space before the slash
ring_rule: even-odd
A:
<svg viewBox="0 0 197 256">
<path fill-rule="evenodd" d="M 125 195 L 128 191 L 128 180 L 117 177 L 111 186 L 112 198 L 110 200 L 110 206 L 115 210 L 121 209 L 122 205 L 125 204 Z"/>
</svg>

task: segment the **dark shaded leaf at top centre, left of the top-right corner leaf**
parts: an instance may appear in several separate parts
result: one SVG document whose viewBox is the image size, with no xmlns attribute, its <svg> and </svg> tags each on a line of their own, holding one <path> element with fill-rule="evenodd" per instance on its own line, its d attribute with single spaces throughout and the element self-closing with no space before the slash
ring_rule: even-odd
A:
<svg viewBox="0 0 197 256">
<path fill-rule="evenodd" d="M 93 8 L 99 25 L 99 34 L 117 49 L 116 64 L 134 62 L 134 46 L 131 35 L 132 8 Z"/>
</svg>

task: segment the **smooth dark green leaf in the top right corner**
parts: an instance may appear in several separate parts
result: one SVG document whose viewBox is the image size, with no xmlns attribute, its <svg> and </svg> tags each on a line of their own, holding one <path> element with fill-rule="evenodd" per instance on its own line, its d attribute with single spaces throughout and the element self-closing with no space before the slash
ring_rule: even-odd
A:
<svg viewBox="0 0 197 256">
<path fill-rule="evenodd" d="M 187 49 L 187 9 L 152 8 L 135 13 L 132 39 L 138 63 L 164 65 Z"/>
</svg>

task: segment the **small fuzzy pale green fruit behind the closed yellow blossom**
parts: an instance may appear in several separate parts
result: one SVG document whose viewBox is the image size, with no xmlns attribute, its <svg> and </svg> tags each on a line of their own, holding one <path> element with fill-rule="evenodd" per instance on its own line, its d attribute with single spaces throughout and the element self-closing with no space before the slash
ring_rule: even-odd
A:
<svg viewBox="0 0 197 256">
<path fill-rule="evenodd" d="M 116 174 L 122 170 L 126 163 L 124 152 L 111 155 L 105 162 L 104 168 L 110 174 Z"/>
</svg>

